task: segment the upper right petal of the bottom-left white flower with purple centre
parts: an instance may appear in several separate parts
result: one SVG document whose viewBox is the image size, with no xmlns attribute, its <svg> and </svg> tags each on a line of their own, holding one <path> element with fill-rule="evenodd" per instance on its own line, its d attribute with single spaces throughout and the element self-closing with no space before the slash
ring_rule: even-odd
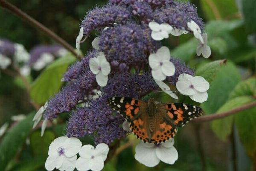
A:
<svg viewBox="0 0 256 171">
<path fill-rule="evenodd" d="M 82 146 L 82 143 L 77 138 L 68 138 L 65 141 L 64 148 L 65 148 L 65 156 L 66 157 L 73 157 L 75 156 L 80 148 Z"/>
</svg>

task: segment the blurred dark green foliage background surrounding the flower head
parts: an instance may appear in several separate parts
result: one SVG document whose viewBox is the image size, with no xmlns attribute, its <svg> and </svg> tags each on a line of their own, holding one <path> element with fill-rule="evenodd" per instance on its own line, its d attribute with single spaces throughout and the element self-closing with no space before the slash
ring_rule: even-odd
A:
<svg viewBox="0 0 256 171">
<path fill-rule="evenodd" d="M 9 0 L 15 6 L 43 23 L 75 47 L 79 22 L 89 9 L 102 6 L 106 0 Z M 208 74 L 211 82 L 209 98 L 201 104 L 206 114 L 224 112 L 256 98 L 256 0 L 191 0 L 206 23 L 208 44 L 212 49 L 209 60 L 196 57 L 197 40 L 192 35 L 182 35 L 164 41 L 171 54 L 181 58 L 196 73 Z M 19 17 L 0 8 L 0 38 L 21 43 L 29 51 L 38 44 L 55 43 L 47 35 L 30 26 Z M 91 49 L 91 35 L 81 45 L 86 54 Z M 31 98 L 38 105 L 61 87 L 62 74 L 75 61 L 59 62 L 59 68 L 46 68 L 29 78 Z M 67 58 L 64 58 L 67 59 Z M 222 66 L 211 68 L 212 61 L 227 59 Z M 218 63 L 219 64 L 219 63 Z M 212 69 L 206 71 L 207 69 Z M 48 74 L 47 74 L 48 73 Z M 39 75 L 39 76 L 38 76 Z M 60 75 L 60 76 L 57 76 Z M 210 75 L 210 76 L 209 76 Z M 57 77 L 57 78 L 56 78 Z M 60 78 L 59 78 L 60 77 Z M 37 78 L 37 79 L 36 79 Z M 47 78 L 47 81 L 42 81 Z M 56 85 L 55 82 L 59 83 Z M 53 86 L 56 85 L 56 86 Z M 50 90 L 48 93 L 37 90 Z M 1 73 L 0 77 L 0 127 L 9 123 L 7 133 L 0 137 L 0 170 L 44 171 L 44 162 L 50 142 L 65 133 L 68 114 L 61 115 L 44 137 L 40 128 L 32 130 L 35 114 L 30 97 L 20 78 Z M 25 114 L 19 122 L 12 116 Z M 129 136 L 128 139 L 134 137 Z M 83 144 L 91 143 L 84 138 Z M 128 141 L 128 139 L 124 140 Z M 160 162 L 147 168 L 134 159 L 135 145 L 109 161 L 104 171 L 252 171 L 256 170 L 256 107 L 236 115 L 201 123 L 189 123 L 175 136 L 179 159 L 174 165 Z"/>
</svg>

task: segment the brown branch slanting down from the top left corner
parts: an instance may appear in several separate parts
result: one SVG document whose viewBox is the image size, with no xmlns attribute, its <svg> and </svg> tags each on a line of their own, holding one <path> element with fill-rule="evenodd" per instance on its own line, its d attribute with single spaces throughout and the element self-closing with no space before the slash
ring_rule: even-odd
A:
<svg viewBox="0 0 256 171">
<path fill-rule="evenodd" d="M 9 3 L 6 0 L 0 0 L 0 6 L 2 6 L 4 9 L 7 9 L 10 12 L 16 14 L 18 17 L 24 19 L 25 21 L 27 21 L 32 26 L 40 29 L 45 34 L 49 35 L 49 37 L 54 39 L 56 42 L 60 43 L 64 48 L 66 48 L 68 51 L 70 51 L 73 55 L 75 55 L 75 56 L 77 55 L 76 50 L 69 43 L 64 41 L 61 37 L 56 35 L 54 32 L 52 32 L 46 26 L 44 26 L 43 24 L 39 23 L 37 20 L 35 20 L 34 18 L 29 16 L 25 12 L 21 11 L 20 9 L 18 9 L 12 3 Z M 79 58 L 81 59 L 82 57 L 79 55 Z"/>
</svg>

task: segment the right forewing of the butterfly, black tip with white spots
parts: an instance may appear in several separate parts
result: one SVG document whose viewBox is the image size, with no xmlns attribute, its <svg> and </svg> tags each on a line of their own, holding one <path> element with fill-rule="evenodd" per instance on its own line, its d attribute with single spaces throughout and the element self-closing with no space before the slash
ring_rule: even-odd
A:
<svg viewBox="0 0 256 171">
<path fill-rule="evenodd" d="M 157 104 L 163 117 L 177 127 L 183 127 L 190 120 L 202 115 L 201 107 L 185 103 Z"/>
</svg>

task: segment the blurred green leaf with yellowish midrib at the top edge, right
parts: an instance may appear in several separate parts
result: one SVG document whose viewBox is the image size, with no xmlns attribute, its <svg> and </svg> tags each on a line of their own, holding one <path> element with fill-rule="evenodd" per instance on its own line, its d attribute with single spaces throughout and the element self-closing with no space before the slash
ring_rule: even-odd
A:
<svg viewBox="0 0 256 171">
<path fill-rule="evenodd" d="M 234 0 L 201 0 L 200 3 L 208 20 L 224 19 L 238 12 Z"/>
</svg>

